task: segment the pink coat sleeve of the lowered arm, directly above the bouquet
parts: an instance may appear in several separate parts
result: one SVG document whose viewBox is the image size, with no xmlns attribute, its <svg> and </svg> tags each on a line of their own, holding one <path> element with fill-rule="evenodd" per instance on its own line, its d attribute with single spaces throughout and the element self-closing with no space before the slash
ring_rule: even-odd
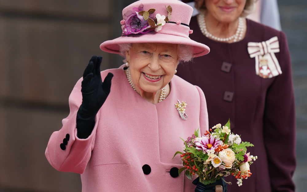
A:
<svg viewBox="0 0 307 192">
<path fill-rule="evenodd" d="M 196 86 L 199 96 L 200 96 L 200 115 L 199 115 L 199 124 L 200 124 L 200 135 L 203 135 L 206 130 L 209 130 L 208 125 L 208 111 L 207 111 L 207 103 L 204 92 L 200 87 Z"/>
</svg>

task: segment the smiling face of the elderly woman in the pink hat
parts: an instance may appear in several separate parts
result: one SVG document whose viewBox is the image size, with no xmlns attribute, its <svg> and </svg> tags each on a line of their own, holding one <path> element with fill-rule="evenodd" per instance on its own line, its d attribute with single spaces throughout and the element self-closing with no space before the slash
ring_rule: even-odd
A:
<svg viewBox="0 0 307 192">
<path fill-rule="evenodd" d="M 155 93 L 165 87 L 175 74 L 179 60 L 177 44 L 134 43 L 126 51 L 126 59 L 134 87 L 141 95 L 142 92 Z"/>
</svg>

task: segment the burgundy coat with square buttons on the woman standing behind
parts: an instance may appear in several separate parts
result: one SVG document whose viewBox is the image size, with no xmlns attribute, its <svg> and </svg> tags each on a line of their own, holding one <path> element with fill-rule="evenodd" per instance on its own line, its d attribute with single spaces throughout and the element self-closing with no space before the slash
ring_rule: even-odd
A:
<svg viewBox="0 0 307 192">
<path fill-rule="evenodd" d="M 192 63 L 178 66 L 177 75 L 199 86 L 207 100 L 209 127 L 231 120 L 231 131 L 255 147 L 252 177 L 238 187 L 233 176 L 228 192 L 294 191 L 295 109 L 291 62 L 283 32 L 247 20 L 246 37 L 236 43 L 223 43 L 205 37 L 192 17 L 190 38 L 210 47 L 210 53 Z M 278 37 L 280 52 L 275 53 L 282 74 L 264 79 L 255 72 L 255 58 L 247 52 L 248 42 Z M 224 62 L 224 64 L 223 64 Z M 227 62 L 227 63 L 225 63 Z"/>
</svg>

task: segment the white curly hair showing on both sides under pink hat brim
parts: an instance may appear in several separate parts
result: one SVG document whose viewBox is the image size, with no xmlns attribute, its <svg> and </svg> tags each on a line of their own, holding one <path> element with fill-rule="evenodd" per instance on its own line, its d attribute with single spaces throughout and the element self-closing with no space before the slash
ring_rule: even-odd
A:
<svg viewBox="0 0 307 192">
<path fill-rule="evenodd" d="M 123 57 L 123 62 L 127 62 L 126 51 L 132 48 L 132 43 L 119 44 L 119 55 Z M 178 63 L 191 61 L 193 58 L 193 47 L 191 45 L 178 44 L 177 57 Z"/>
</svg>

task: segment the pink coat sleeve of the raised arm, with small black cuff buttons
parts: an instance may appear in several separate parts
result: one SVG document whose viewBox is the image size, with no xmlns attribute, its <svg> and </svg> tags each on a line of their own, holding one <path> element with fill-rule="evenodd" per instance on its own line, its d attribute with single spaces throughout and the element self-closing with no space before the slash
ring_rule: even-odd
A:
<svg viewBox="0 0 307 192">
<path fill-rule="evenodd" d="M 63 127 L 52 133 L 45 151 L 47 160 L 56 170 L 80 174 L 84 172 L 91 157 L 99 120 L 98 112 L 91 135 L 87 139 L 77 137 L 76 116 L 82 103 L 81 82 L 82 78 L 77 82 L 69 96 L 70 113 L 67 118 L 62 120 Z M 68 134 L 67 145 L 63 147 L 62 144 L 62 147 L 60 147 L 61 143 L 65 144 L 64 138 L 68 138 Z"/>
</svg>

